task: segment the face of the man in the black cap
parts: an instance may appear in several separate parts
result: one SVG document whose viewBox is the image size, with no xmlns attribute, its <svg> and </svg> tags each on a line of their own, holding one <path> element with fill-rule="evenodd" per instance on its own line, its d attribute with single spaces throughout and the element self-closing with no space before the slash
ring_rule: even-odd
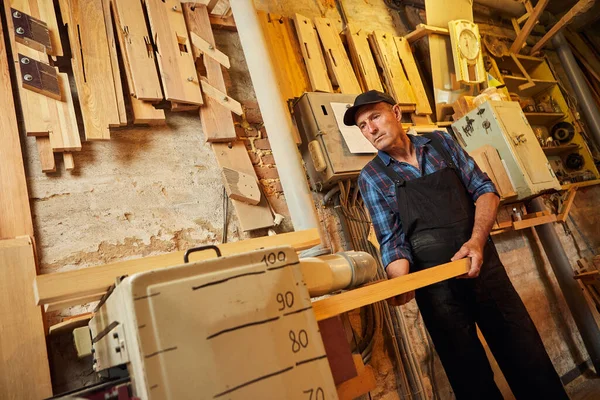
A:
<svg viewBox="0 0 600 400">
<path fill-rule="evenodd" d="M 368 104 L 356 113 L 356 125 L 377 150 L 386 151 L 400 140 L 404 133 L 397 106 L 388 103 Z"/>
</svg>

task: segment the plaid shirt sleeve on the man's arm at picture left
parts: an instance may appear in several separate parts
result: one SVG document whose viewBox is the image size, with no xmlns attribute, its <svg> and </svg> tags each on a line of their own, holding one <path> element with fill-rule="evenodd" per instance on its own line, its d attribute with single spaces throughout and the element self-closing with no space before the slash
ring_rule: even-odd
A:
<svg viewBox="0 0 600 400">
<path fill-rule="evenodd" d="M 376 184 L 375 179 L 364 171 L 358 178 L 358 185 L 373 221 L 384 268 L 399 259 L 406 259 L 412 265 L 410 244 L 402 230 L 398 213 L 394 212 L 396 208 L 394 205 L 395 195 L 386 196 Z"/>
</svg>

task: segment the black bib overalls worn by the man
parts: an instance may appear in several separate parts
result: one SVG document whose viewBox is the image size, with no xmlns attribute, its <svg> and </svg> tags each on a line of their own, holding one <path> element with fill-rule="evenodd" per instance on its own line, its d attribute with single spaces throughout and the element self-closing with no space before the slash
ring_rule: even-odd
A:
<svg viewBox="0 0 600 400">
<path fill-rule="evenodd" d="M 405 181 L 391 163 L 374 159 L 396 187 L 398 217 L 412 250 L 411 272 L 450 262 L 470 239 L 475 221 L 475 205 L 452 157 L 436 136 L 424 136 L 446 167 Z M 502 399 L 476 326 L 517 399 L 568 399 L 490 237 L 478 278 L 418 289 L 416 300 L 458 399 Z"/>
</svg>

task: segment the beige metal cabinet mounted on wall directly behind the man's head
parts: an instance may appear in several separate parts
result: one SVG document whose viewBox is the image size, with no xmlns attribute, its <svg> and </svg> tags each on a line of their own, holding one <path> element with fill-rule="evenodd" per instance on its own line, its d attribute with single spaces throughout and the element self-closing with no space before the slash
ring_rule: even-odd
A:
<svg viewBox="0 0 600 400">
<path fill-rule="evenodd" d="M 355 98 L 340 93 L 304 93 L 294 104 L 293 115 L 302 137 L 300 151 L 315 191 L 356 178 L 375 156 L 350 152 L 331 107 L 331 103 L 352 104 Z"/>
</svg>

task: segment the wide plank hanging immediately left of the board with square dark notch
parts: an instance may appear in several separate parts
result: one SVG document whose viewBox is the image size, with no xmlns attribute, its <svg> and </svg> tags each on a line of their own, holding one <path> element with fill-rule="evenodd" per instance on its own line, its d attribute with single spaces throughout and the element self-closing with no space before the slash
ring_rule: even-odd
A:
<svg viewBox="0 0 600 400">
<path fill-rule="evenodd" d="M 152 40 L 146 28 L 142 3 L 128 0 L 107 1 L 112 4 L 130 93 L 140 100 L 162 100 Z"/>
</svg>

